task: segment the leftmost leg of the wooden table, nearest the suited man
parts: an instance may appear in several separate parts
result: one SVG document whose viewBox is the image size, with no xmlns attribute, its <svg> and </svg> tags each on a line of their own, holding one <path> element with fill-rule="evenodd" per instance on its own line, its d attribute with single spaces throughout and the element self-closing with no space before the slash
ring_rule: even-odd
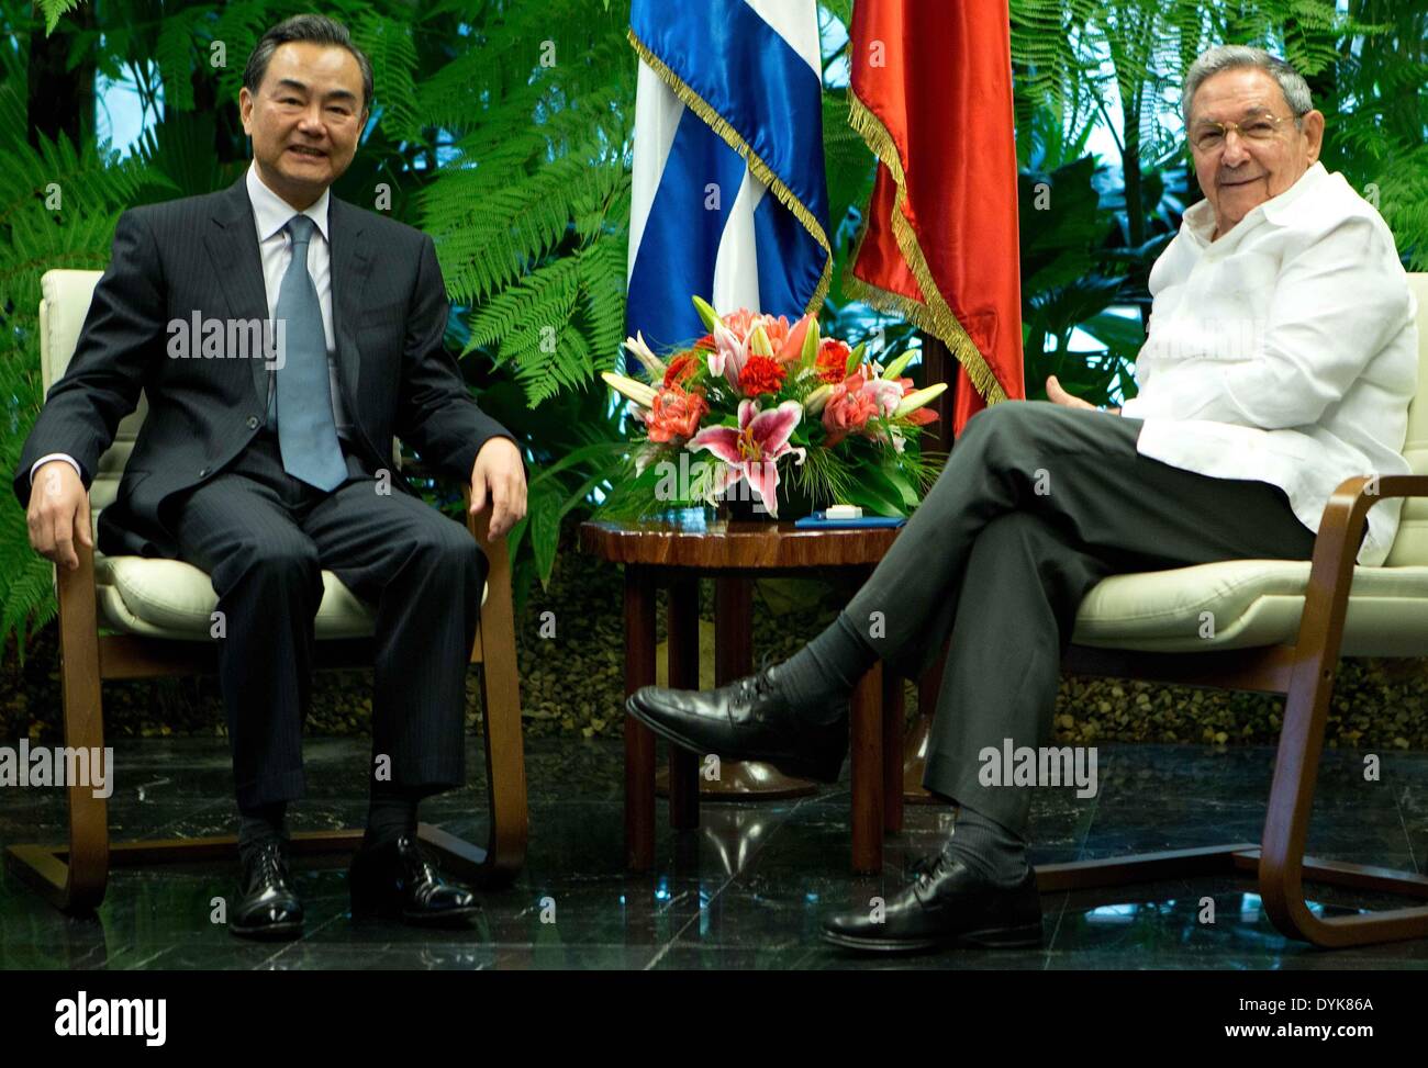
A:
<svg viewBox="0 0 1428 1068">
<path fill-rule="evenodd" d="M 625 564 L 625 695 L 654 684 L 654 581 Z M 625 715 L 625 865 L 654 867 L 654 734 Z"/>
</svg>

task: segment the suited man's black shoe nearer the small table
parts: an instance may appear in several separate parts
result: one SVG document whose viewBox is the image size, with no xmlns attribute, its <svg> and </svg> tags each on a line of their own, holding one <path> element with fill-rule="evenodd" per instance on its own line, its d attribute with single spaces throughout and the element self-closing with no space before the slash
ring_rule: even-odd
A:
<svg viewBox="0 0 1428 1068">
<path fill-rule="evenodd" d="M 481 911 L 476 894 L 447 882 L 408 834 L 386 845 L 364 845 L 347 872 L 353 918 L 381 917 L 408 924 L 457 924 Z"/>
</svg>

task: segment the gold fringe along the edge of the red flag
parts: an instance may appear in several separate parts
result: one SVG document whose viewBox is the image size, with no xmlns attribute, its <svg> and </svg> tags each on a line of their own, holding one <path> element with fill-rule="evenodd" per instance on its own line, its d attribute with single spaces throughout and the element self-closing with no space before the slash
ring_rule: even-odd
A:
<svg viewBox="0 0 1428 1068">
<path fill-rule="evenodd" d="M 863 248 L 863 238 L 868 233 L 867 223 L 864 223 L 863 230 L 858 233 L 857 244 L 853 248 L 853 258 L 848 260 L 847 277 L 843 281 L 844 291 L 867 301 L 875 308 L 901 314 L 920 328 L 941 338 L 952 356 L 957 357 L 957 361 L 967 368 L 967 377 L 971 378 L 977 393 L 987 400 L 987 404 L 997 404 L 1007 400 L 1007 391 L 997 381 L 997 376 L 992 374 L 991 367 L 987 366 L 987 358 L 977 348 L 977 343 L 972 341 L 971 336 L 962 328 L 962 324 L 957 321 L 957 316 L 947 304 L 941 290 L 937 288 L 932 271 L 927 266 L 927 257 L 922 256 L 922 247 L 917 241 L 917 234 L 912 233 L 912 224 L 902 213 L 902 206 L 907 203 L 907 176 L 902 171 L 902 158 L 897 153 L 897 143 L 887 131 L 887 127 L 883 126 L 883 120 L 858 100 L 858 96 L 851 89 L 848 90 L 848 126 L 863 137 L 864 143 L 888 168 L 892 181 L 897 183 L 891 220 L 892 236 L 897 238 L 897 247 L 902 253 L 902 258 L 907 260 L 912 277 L 917 278 L 917 287 L 922 290 L 922 301 L 920 303 L 901 293 L 884 290 L 853 273 L 853 264 L 858 261 L 858 253 Z"/>
</svg>

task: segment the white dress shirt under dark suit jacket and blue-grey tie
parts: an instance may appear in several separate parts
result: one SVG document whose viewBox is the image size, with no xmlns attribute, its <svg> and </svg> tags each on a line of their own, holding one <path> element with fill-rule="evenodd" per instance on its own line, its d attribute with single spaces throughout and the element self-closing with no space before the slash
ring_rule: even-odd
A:
<svg viewBox="0 0 1428 1068">
<path fill-rule="evenodd" d="M 283 227 L 298 213 L 291 204 L 263 184 L 256 163 L 248 164 L 247 183 L 248 200 L 253 203 L 253 221 L 257 226 L 258 256 L 263 260 L 263 287 L 267 291 L 268 318 L 273 320 L 277 317 L 277 298 L 283 288 L 283 276 L 287 274 L 287 266 L 293 261 L 293 238 Z M 333 396 L 333 420 L 337 424 L 338 435 L 347 435 L 351 430 L 351 423 L 347 420 L 343 408 L 341 390 L 337 388 L 337 346 L 333 331 L 333 258 L 327 236 L 327 201 L 328 191 L 323 190 L 323 196 L 301 214 L 311 218 L 316 224 L 313 237 L 307 243 L 307 273 L 313 276 L 313 286 L 317 287 L 317 301 L 323 308 L 323 334 L 327 337 L 327 381 Z M 270 394 L 274 384 L 274 377 L 270 373 Z M 49 455 L 41 455 L 30 467 L 31 484 L 40 464 L 46 464 L 50 460 L 64 460 L 74 468 L 76 474 L 83 477 L 74 457 L 64 453 L 50 453 Z"/>
</svg>

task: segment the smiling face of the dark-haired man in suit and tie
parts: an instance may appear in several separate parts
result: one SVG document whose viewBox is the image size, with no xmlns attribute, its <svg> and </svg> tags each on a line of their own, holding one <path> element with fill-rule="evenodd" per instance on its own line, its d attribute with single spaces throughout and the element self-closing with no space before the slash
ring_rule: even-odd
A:
<svg viewBox="0 0 1428 1068">
<path fill-rule="evenodd" d="M 353 161 L 366 123 L 361 67 L 347 49 L 280 44 L 257 94 L 238 91 L 243 130 L 263 184 L 298 211 Z"/>
</svg>

